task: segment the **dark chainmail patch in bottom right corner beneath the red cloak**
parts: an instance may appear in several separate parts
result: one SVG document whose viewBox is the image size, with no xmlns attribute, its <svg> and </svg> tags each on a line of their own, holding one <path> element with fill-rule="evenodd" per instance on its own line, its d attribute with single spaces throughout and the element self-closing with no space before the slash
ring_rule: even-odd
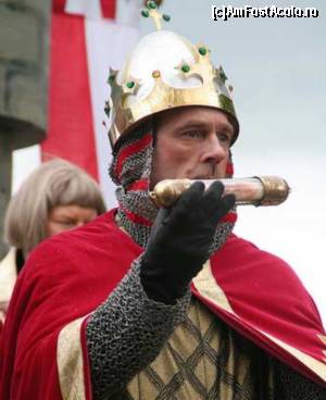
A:
<svg viewBox="0 0 326 400">
<path fill-rule="evenodd" d="M 288 365 L 276 362 L 276 393 L 281 400 L 325 400 L 326 388 L 308 379 Z"/>
</svg>

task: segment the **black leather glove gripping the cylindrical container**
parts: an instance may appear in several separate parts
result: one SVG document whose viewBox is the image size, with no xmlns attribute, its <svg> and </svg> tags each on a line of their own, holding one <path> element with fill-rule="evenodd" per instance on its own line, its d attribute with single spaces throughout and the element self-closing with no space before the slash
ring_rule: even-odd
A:
<svg viewBox="0 0 326 400">
<path fill-rule="evenodd" d="M 204 190 L 199 182 L 171 209 L 161 209 L 140 265 L 147 296 L 174 304 L 209 259 L 218 221 L 234 207 L 234 195 L 222 197 L 223 184 Z"/>
</svg>

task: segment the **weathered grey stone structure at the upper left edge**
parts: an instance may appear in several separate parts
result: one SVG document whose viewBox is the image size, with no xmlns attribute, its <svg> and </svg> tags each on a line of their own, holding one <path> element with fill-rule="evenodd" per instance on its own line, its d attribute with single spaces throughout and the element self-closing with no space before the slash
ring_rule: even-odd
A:
<svg viewBox="0 0 326 400">
<path fill-rule="evenodd" d="M 12 151 L 39 142 L 47 128 L 50 5 L 50 0 L 0 0 L 1 239 Z"/>
</svg>

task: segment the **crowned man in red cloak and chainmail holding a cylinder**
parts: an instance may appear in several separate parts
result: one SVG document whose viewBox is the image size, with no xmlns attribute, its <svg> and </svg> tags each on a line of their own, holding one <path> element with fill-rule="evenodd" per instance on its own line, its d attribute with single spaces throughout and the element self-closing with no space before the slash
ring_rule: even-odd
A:
<svg viewBox="0 0 326 400">
<path fill-rule="evenodd" d="M 152 2 L 143 14 L 161 17 Z M 284 261 L 233 234 L 234 196 L 199 182 L 167 209 L 150 197 L 162 179 L 233 175 L 239 124 L 209 49 L 158 30 L 109 82 L 118 207 L 29 257 L 1 399 L 326 399 L 314 302 Z"/>
</svg>

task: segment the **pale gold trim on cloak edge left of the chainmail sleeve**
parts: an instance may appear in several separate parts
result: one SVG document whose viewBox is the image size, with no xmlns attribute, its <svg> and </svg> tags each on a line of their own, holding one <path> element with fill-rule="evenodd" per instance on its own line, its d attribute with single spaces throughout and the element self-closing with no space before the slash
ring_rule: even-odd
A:
<svg viewBox="0 0 326 400">
<path fill-rule="evenodd" d="M 57 361 L 63 400 L 86 400 L 80 327 L 85 316 L 66 325 L 59 334 Z"/>
</svg>

